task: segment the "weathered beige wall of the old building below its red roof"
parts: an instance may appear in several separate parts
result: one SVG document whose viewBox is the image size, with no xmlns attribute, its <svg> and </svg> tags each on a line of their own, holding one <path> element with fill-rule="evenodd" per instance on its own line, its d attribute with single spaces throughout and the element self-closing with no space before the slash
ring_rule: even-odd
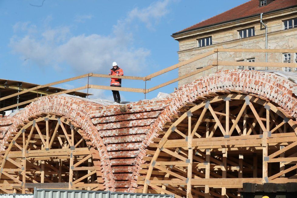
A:
<svg viewBox="0 0 297 198">
<path fill-rule="evenodd" d="M 297 18 L 297 8 L 285 9 L 263 15 L 263 21 L 268 26 L 268 49 L 296 49 L 297 28 L 284 29 L 284 21 Z M 247 38 L 239 38 L 238 30 L 254 27 L 254 35 Z M 198 47 L 200 38 L 212 37 L 212 45 Z M 214 48 L 243 48 L 243 49 L 265 49 L 265 28 L 260 24 L 260 15 L 248 17 L 234 22 L 213 25 L 172 36 L 179 41 L 179 61 L 184 61 L 198 54 L 213 50 Z M 291 53 L 291 63 L 295 62 L 295 53 Z M 219 52 L 207 56 L 201 60 L 187 64 L 179 68 L 179 76 L 195 71 L 197 68 L 212 65 L 213 61 L 247 61 L 254 59 L 255 62 L 265 62 L 265 53 L 227 53 Z M 268 62 L 282 63 L 283 53 L 268 53 Z M 265 67 L 243 67 L 244 69 L 263 70 Z M 192 82 L 202 76 L 207 76 L 217 70 L 238 69 L 237 66 L 218 66 L 198 73 L 192 77 L 180 80 L 178 86 Z M 271 70 L 284 70 L 284 68 L 269 68 Z M 291 68 L 297 72 L 297 68 Z"/>
</svg>

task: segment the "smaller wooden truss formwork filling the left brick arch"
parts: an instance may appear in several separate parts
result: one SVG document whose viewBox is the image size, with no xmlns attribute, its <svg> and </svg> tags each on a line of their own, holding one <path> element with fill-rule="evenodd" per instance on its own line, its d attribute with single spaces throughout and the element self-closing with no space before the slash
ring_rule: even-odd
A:
<svg viewBox="0 0 297 198">
<path fill-rule="evenodd" d="M 39 114 L 18 128 L 0 156 L 0 193 L 104 189 L 98 150 L 74 121 Z"/>
</svg>

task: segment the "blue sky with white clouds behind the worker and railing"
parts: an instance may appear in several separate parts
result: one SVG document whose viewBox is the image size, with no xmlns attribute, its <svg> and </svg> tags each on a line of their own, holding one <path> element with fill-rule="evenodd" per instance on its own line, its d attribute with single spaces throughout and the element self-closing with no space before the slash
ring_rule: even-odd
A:
<svg viewBox="0 0 297 198">
<path fill-rule="evenodd" d="M 247 0 L 0 0 L 0 78 L 47 84 L 85 73 L 108 74 L 113 61 L 125 75 L 145 76 L 178 63 L 178 42 L 170 35 Z M 147 87 L 172 80 L 177 70 L 156 77 Z M 90 78 L 107 85 L 109 79 Z M 59 84 L 76 88 L 87 79 Z M 144 88 L 123 80 L 123 87 Z M 171 93 L 177 83 L 147 94 Z M 110 90 L 90 90 L 112 99 Z M 122 101 L 144 94 L 121 92 Z"/>
</svg>

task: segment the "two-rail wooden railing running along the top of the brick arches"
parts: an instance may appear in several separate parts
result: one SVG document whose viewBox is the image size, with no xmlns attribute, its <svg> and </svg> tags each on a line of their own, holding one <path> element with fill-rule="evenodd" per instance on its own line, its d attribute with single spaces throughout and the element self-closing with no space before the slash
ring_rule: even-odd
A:
<svg viewBox="0 0 297 198">
<path fill-rule="evenodd" d="M 191 77 L 191 76 L 193 76 L 195 74 L 201 73 L 203 71 L 206 71 L 206 70 L 209 70 L 211 68 L 218 67 L 218 66 L 297 67 L 297 63 L 275 63 L 275 62 L 265 63 L 265 62 L 218 61 L 218 53 L 220 53 L 220 52 L 237 52 L 237 53 L 245 53 L 245 52 L 248 52 L 248 53 L 266 53 L 266 52 L 267 53 L 297 53 L 297 49 L 224 49 L 224 48 L 218 48 L 218 49 L 213 49 L 213 50 L 211 50 L 209 52 L 206 52 L 206 53 L 203 53 L 203 54 L 199 54 L 197 56 L 194 56 L 193 58 L 190 58 L 188 60 L 179 62 L 179 63 L 177 63 L 175 65 L 172 65 L 170 67 L 167 67 L 165 69 L 162 69 L 162 70 L 160 70 L 158 72 L 149 74 L 149 75 L 147 75 L 145 77 L 135 77 L 135 76 L 118 76 L 117 77 L 117 78 L 121 78 L 121 79 L 148 81 L 148 80 L 151 80 L 154 77 L 157 77 L 159 75 L 162 75 L 162 74 L 167 73 L 169 71 L 172 71 L 174 69 L 177 69 L 179 67 L 182 67 L 182 66 L 184 66 L 186 64 L 192 63 L 192 62 L 197 61 L 197 60 L 204 59 L 207 56 L 210 56 L 210 55 L 213 55 L 213 54 L 217 54 L 217 59 L 216 60 L 213 60 L 213 63 L 211 65 L 208 65 L 206 67 L 197 69 L 197 70 L 195 70 L 195 71 L 193 71 L 191 73 L 188 73 L 188 74 L 185 74 L 183 76 L 177 77 L 175 79 L 169 80 L 169 81 L 167 81 L 165 83 L 162 83 L 162 84 L 159 84 L 159 85 L 157 85 L 155 87 L 151 87 L 151 88 L 145 87 L 144 89 L 140 89 L 140 88 L 110 87 L 110 86 L 87 84 L 87 85 L 85 85 L 83 87 L 78 87 L 78 88 L 75 88 L 75 89 L 65 90 L 65 91 L 61 91 L 61 92 L 54 93 L 54 94 L 49 94 L 49 95 L 67 94 L 67 93 L 70 93 L 70 92 L 73 92 L 73 91 L 78 91 L 78 90 L 83 90 L 83 89 L 89 89 L 89 88 L 92 88 L 92 89 L 103 89 L 103 90 L 129 91 L 129 92 L 136 92 L 136 93 L 147 94 L 147 93 L 149 93 L 151 91 L 154 91 L 154 90 L 157 90 L 157 89 L 159 89 L 161 87 L 165 87 L 165 86 L 167 86 L 169 84 L 172 84 L 172 83 L 175 83 L 175 82 L 177 82 L 179 80 L 183 80 L 185 78 Z M 8 95 L 8 96 L 5 96 L 5 97 L 1 97 L 0 98 L 0 102 L 3 101 L 3 100 L 5 100 L 5 99 L 11 98 L 11 97 L 15 97 L 15 96 L 18 96 L 18 95 L 21 95 L 21 94 L 28 93 L 30 91 L 34 91 L 34 92 L 37 91 L 37 93 L 38 93 L 38 89 L 42 89 L 44 87 L 49 87 L 49 86 L 53 86 L 53 85 L 57 85 L 57 84 L 65 83 L 65 82 L 70 82 L 70 81 L 81 79 L 81 78 L 85 78 L 85 77 L 88 77 L 88 78 L 89 77 L 110 78 L 111 76 L 110 75 L 105 75 L 105 74 L 87 73 L 87 74 L 84 74 L 84 75 L 81 75 L 81 76 L 72 77 L 72 78 L 68 78 L 68 79 L 65 79 L 65 80 L 56 81 L 56 82 L 45 84 L 45 85 L 39 85 L 37 87 L 32 87 L 30 89 L 23 90 L 23 91 L 20 91 L 18 93 L 15 93 L 15 94 L 11 94 L 11 95 Z M 46 96 L 49 96 L 49 95 L 46 95 Z M 4 107 L 4 108 L 0 108 L 0 111 L 5 111 L 5 110 L 8 110 L 8 109 L 11 109 L 11 108 L 14 108 L 14 107 L 23 105 L 23 104 L 29 104 L 29 103 L 31 103 L 33 101 L 36 101 L 36 100 L 38 100 L 40 98 L 43 98 L 43 97 L 46 97 L 46 96 L 36 97 L 36 98 L 31 99 L 31 100 L 28 100 L 28 101 L 24 101 L 24 102 L 20 102 L 18 104 L 13 104 L 13 105 L 10 105 L 10 106 Z"/>
</svg>

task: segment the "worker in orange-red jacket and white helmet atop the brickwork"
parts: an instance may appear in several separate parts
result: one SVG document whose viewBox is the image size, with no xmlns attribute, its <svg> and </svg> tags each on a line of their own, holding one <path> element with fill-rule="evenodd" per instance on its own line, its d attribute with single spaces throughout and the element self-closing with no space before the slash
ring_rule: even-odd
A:
<svg viewBox="0 0 297 198">
<path fill-rule="evenodd" d="M 112 76 L 123 76 L 124 72 L 121 68 L 118 67 L 118 64 L 116 62 L 112 63 L 112 68 L 110 70 L 109 75 Z M 121 87 L 122 79 L 119 78 L 111 78 L 110 86 L 111 87 Z M 114 96 L 114 102 L 120 103 L 121 97 L 120 92 L 116 90 L 112 90 L 112 95 Z"/>
</svg>

